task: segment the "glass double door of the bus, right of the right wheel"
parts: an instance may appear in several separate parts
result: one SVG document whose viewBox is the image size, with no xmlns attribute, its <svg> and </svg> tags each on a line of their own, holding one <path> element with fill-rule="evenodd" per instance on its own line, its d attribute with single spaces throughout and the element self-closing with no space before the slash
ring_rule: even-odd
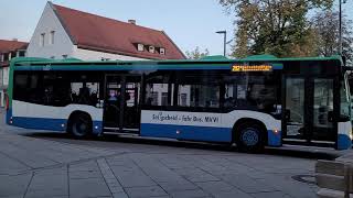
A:
<svg viewBox="0 0 353 198">
<path fill-rule="evenodd" d="M 334 145 L 333 87 L 332 78 L 285 78 L 285 142 Z"/>
</svg>

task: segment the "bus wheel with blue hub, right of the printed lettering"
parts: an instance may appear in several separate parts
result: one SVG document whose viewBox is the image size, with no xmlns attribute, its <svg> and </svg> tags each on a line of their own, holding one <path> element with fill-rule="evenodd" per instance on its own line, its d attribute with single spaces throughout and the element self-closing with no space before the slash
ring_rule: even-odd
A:
<svg viewBox="0 0 353 198">
<path fill-rule="evenodd" d="M 265 129 L 257 122 L 239 123 L 235 128 L 235 143 L 243 152 L 260 152 L 265 147 Z"/>
</svg>

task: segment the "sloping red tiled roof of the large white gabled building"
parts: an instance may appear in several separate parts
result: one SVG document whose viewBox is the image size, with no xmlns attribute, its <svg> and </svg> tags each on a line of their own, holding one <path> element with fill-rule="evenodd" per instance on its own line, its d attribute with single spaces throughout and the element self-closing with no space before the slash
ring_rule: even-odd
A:
<svg viewBox="0 0 353 198">
<path fill-rule="evenodd" d="M 53 4 L 74 44 L 79 48 L 103 51 L 151 59 L 184 59 L 184 54 L 163 32 L 87 12 Z M 165 54 L 137 51 L 137 43 L 164 47 Z"/>
</svg>

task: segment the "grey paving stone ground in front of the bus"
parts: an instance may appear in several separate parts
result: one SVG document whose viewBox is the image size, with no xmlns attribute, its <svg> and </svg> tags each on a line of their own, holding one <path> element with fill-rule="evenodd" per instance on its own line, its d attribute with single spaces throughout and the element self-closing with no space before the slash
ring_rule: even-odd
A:
<svg viewBox="0 0 353 198">
<path fill-rule="evenodd" d="M 2 118 L 0 118 L 2 119 Z M 3 120 L 3 119 L 2 119 Z M 315 197 L 314 160 L 149 145 L 77 145 L 0 123 L 0 197 Z M 25 132 L 25 131 L 24 131 Z"/>
</svg>

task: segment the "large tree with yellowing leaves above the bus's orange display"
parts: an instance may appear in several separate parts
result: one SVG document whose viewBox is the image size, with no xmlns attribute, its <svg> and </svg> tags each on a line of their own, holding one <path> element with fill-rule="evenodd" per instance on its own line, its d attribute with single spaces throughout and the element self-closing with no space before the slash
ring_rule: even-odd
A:
<svg viewBox="0 0 353 198">
<path fill-rule="evenodd" d="M 307 14 L 312 9 L 332 7 L 332 0 L 220 0 L 220 3 L 236 16 L 235 57 L 314 55 L 314 32 Z"/>
</svg>

